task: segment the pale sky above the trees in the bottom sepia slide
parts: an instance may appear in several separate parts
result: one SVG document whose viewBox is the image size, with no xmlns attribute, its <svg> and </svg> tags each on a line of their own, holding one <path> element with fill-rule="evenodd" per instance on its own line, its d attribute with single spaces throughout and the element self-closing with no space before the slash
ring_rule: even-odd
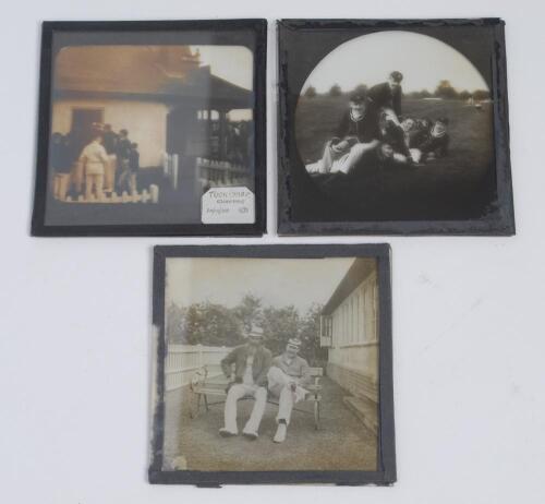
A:
<svg viewBox="0 0 545 504">
<path fill-rule="evenodd" d="M 265 305 L 293 304 L 304 313 L 326 303 L 354 257 L 240 259 L 173 257 L 167 260 L 166 304 L 210 301 L 235 307 L 246 293 Z"/>
</svg>

